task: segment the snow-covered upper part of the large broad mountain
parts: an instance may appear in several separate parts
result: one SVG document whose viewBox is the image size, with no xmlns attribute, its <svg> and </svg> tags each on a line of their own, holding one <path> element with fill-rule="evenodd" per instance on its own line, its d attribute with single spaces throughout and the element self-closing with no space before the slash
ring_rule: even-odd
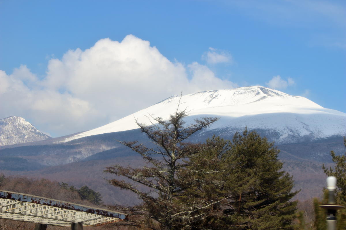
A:
<svg viewBox="0 0 346 230">
<path fill-rule="evenodd" d="M 314 140 L 346 134 L 346 113 L 323 108 L 304 97 L 252 86 L 203 91 L 182 97 L 175 95 L 105 126 L 59 142 L 137 129 L 136 120 L 150 124 L 150 116 L 168 119 L 176 110 L 179 100 L 179 109 L 189 111 L 187 121 L 203 116 L 221 117 L 209 128 L 218 130 L 218 133 L 234 133 L 247 126 L 250 130 L 273 134 L 276 136 L 276 143 L 293 143 L 307 138 Z"/>
</svg>

